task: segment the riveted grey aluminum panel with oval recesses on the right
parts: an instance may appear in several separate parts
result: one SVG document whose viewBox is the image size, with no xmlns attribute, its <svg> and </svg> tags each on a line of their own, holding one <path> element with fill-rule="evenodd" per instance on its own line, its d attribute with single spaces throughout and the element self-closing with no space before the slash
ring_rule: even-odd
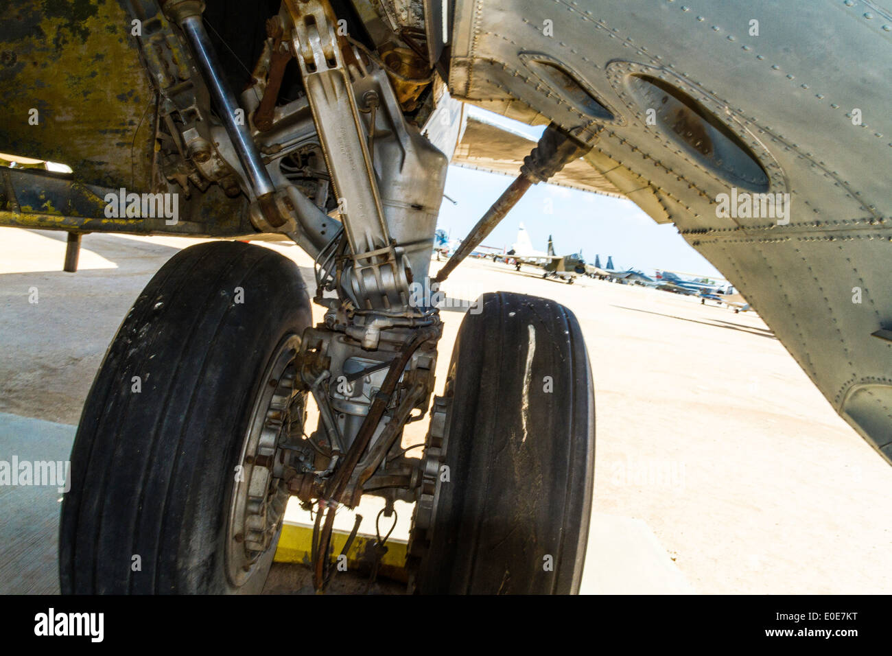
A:
<svg viewBox="0 0 892 656">
<path fill-rule="evenodd" d="M 580 129 L 584 188 L 673 223 L 892 461 L 890 29 L 863 1 L 459 2 L 449 87 Z"/>
</svg>

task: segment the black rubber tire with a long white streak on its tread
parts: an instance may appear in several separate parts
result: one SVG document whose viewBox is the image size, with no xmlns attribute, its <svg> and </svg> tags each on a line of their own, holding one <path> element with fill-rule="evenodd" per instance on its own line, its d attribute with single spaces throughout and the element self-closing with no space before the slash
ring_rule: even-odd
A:
<svg viewBox="0 0 892 656">
<path fill-rule="evenodd" d="M 415 591 L 577 593 L 591 517 L 595 405 L 573 312 L 535 296 L 483 295 L 483 311 L 466 314 L 458 330 L 446 394 L 450 481 L 437 480 Z"/>
</svg>

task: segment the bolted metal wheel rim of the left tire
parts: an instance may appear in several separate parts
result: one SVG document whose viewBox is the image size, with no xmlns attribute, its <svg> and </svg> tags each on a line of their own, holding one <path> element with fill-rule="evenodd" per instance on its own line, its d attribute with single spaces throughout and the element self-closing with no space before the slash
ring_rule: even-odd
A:
<svg viewBox="0 0 892 656">
<path fill-rule="evenodd" d="M 294 369 L 300 346 L 299 336 L 285 336 L 255 392 L 227 518 L 226 570 L 229 582 L 236 587 L 268 569 L 285 516 L 289 494 L 277 444 L 293 419 L 303 420 L 304 394 L 296 390 Z"/>
</svg>

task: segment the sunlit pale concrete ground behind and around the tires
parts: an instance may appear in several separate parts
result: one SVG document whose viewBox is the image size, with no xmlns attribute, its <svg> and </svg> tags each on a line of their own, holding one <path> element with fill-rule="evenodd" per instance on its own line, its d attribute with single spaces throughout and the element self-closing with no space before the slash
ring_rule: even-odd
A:
<svg viewBox="0 0 892 656">
<path fill-rule="evenodd" d="M 120 320 L 161 264 L 195 241 L 88 235 L 70 274 L 63 233 L 0 228 L 0 461 L 63 457 Z M 312 286 L 309 257 L 269 247 Z M 756 314 L 484 261 L 463 263 L 443 289 L 450 303 L 495 290 L 547 296 L 580 320 L 598 410 L 583 592 L 892 592 L 892 469 Z M 462 313 L 442 311 L 441 386 Z M 422 423 L 405 444 L 423 439 Z M 0 593 L 55 589 L 58 497 L 0 487 Z M 374 501 L 360 529 L 372 534 Z M 398 511 L 394 536 L 409 524 L 409 508 Z M 351 524 L 348 515 L 339 520 Z M 288 517 L 301 520 L 300 509 Z"/>
</svg>

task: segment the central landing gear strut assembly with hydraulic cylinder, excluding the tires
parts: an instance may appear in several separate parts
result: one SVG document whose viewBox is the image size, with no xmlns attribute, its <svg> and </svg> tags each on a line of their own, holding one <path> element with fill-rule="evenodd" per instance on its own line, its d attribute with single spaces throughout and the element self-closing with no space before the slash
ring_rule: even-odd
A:
<svg viewBox="0 0 892 656">
<path fill-rule="evenodd" d="M 442 324 L 435 308 L 413 306 L 410 288 L 428 273 L 448 162 L 406 120 L 379 60 L 337 36 L 326 0 L 284 0 L 268 21 L 253 97 L 243 95 L 243 107 L 219 72 L 202 2 L 163 5 L 186 35 L 219 113 L 223 128 L 215 128 L 214 142 L 256 199 L 252 223 L 291 236 L 316 256 L 316 300 L 328 311 L 323 324 L 301 337 L 295 389 L 312 394 L 320 420 L 310 436 L 302 423 L 289 427 L 280 446 L 291 463 L 287 491 L 318 503 L 313 561 L 322 589 L 337 505 L 355 506 L 365 491 L 392 502 L 412 494 L 417 479 L 401 458 L 399 437 L 426 410 Z M 277 107 L 289 53 L 306 97 Z M 242 110 L 246 120 L 237 120 Z M 309 197 L 277 163 L 307 149 L 321 150 L 325 159 L 313 169 L 324 184 Z M 333 211 L 328 179 L 340 224 L 326 217 Z M 421 414 L 413 417 L 415 410 Z"/>
</svg>

